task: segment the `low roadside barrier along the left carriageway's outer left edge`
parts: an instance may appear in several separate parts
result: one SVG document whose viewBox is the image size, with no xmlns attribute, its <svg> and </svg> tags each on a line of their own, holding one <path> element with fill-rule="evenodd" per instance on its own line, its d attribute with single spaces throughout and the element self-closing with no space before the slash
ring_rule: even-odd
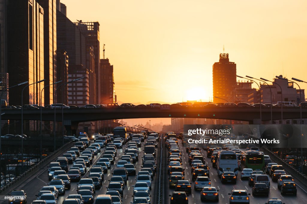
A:
<svg viewBox="0 0 307 204">
<path fill-rule="evenodd" d="M 45 157 L 44 159 L 42 159 L 40 162 L 38 162 L 37 164 L 35 164 L 33 167 L 27 169 L 25 172 L 23 172 L 21 175 L 16 176 L 13 180 L 11 180 L 11 182 L 7 182 L 5 186 L 3 186 L 2 188 L 0 188 L 0 193 L 2 193 L 3 191 L 5 191 L 7 188 L 9 188 L 10 186 L 14 185 L 17 181 L 19 181 L 20 179 L 22 179 L 23 177 L 25 177 L 26 175 L 28 175 L 30 172 L 32 172 L 33 170 L 41 167 L 42 165 L 45 164 L 46 161 L 48 161 L 51 157 L 53 157 L 55 154 L 57 154 L 58 152 L 60 152 L 62 149 L 64 149 L 67 145 L 71 144 L 72 141 L 65 143 L 63 146 L 61 146 L 59 149 L 56 149 L 56 151 L 52 152 L 52 154 L 49 154 L 47 157 Z"/>
</svg>

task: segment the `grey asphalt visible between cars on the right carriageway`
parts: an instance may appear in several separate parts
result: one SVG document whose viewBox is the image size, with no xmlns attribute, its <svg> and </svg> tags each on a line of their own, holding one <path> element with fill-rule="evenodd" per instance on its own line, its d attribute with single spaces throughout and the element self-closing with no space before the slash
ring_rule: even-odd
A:
<svg viewBox="0 0 307 204">
<path fill-rule="evenodd" d="M 191 167 L 188 163 L 188 153 L 185 151 L 185 147 L 182 146 L 181 140 L 178 140 L 179 146 L 182 151 L 182 166 L 185 168 L 185 179 L 189 180 L 192 186 L 192 194 L 189 195 L 188 200 L 189 204 L 196 204 L 200 203 L 200 191 L 195 191 L 194 190 L 194 183 L 192 182 L 192 175 L 191 175 Z M 241 151 L 245 151 L 245 149 L 240 149 Z M 252 195 L 252 187 L 248 185 L 248 180 L 244 179 L 241 180 L 241 174 L 239 172 L 238 174 L 238 179 L 236 184 L 222 184 L 220 178 L 217 176 L 216 168 L 212 168 L 212 163 L 210 158 L 207 158 L 206 151 L 201 150 L 201 153 L 203 157 L 205 158 L 206 164 L 210 167 L 210 179 L 211 179 L 211 186 L 216 187 L 216 189 L 219 190 L 219 202 L 218 203 L 229 203 L 229 195 L 228 193 L 231 193 L 232 189 L 236 190 L 247 190 L 247 193 L 250 193 L 250 203 L 252 204 L 264 204 L 266 203 L 269 198 L 279 198 L 282 200 L 282 202 L 288 204 L 288 203 L 306 203 L 307 202 L 307 192 L 306 190 L 303 190 L 303 186 L 300 186 L 297 184 L 297 196 L 294 195 L 281 195 L 280 190 L 277 188 L 277 182 L 271 182 L 271 187 L 270 187 L 270 193 L 269 196 L 253 196 Z M 168 150 L 167 148 L 164 149 L 164 158 L 168 157 Z M 167 159 L 164 160 L 164 165 L 167 165 Z M 172 194 L 174 189 L 169 189 L 169 181 L 168 181 L 168 174 L 167 171 L 164 172 L 164 185 L 165 185 L 165 194 L 164 194 L 164 199 L 165 203 L 170 203 L 170 197 L 169 195 Z M 295 180 L 294 180 L 295 181 Z"/>
</svg>

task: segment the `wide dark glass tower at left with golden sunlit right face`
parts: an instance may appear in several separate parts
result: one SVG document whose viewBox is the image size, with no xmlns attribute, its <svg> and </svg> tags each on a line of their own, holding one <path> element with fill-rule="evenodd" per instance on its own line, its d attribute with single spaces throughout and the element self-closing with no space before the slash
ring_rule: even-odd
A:
<svg viewBox="0 0 307 204">
<path fill-rule="evenodd" d="M 45 10 L 35 0 L 29 0 L 18 3 L 8 1 L 7 11 L 8 73 L 11 83 L 14 82 L 15 85 L 29 81 L 32 84 L 44 79 Z M 44 84 L 39 83 L 26 88 L 23 104 L 40 104 L 43 87 Z M 14 91 L 10 91 L 11 105 L 21 105 L 23 88 L 24 86 L 17 86 Z"/>
</svg>

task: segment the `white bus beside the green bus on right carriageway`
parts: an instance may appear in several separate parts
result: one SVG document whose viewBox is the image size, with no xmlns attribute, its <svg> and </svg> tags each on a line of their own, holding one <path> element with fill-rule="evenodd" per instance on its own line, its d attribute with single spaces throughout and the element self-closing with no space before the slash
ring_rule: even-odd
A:
<svg viewBox="0 0 307 204">
<path fill-rule="evenodd" d="M 234 172 L 238 175 L 238 158 L 237 154 L 232 150 L 221 150 L 217 153 L 217 174 L 222 175 L 223 172 Z"/>
</svg>

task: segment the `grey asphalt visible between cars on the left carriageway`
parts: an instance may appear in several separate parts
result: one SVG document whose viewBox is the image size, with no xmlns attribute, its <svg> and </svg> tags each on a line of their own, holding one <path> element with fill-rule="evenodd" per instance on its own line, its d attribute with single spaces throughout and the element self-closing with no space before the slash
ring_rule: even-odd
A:
<svg viewBox="0 0 307 204">
<path fill-rule="evenodd" d="M 145 140 L 146 142 L 146 140 Z M 143 149 L 143 145 L 145 144 L 145 142 L 142 142 L 142 145 L 139 149 L 139 160 L 134 164 L 136 166 L 136 172 L 138 173 L 138 171 L 141 170 L 141 166 L 142 166 L 142 157 L 144 155 L 144 152 L 142 151 Z M 160 143 L 159 143 L 160 144 Z M 90 165 L 90 167 L 86 168 L 86 173 L 82 176 L 82 178 L 86 178 L 88 175 L 88 172 L 91 168 L 92 165 L 94 165 L 103 155 L 103 151 L 104 151 L 105 147 L 101 149 L 101 152 L 98 153 L 97 155 L 95 155 L 94 159 L 93 159 L 93 163 Z M 115 164 L 117 163 L 117 161 L 120 160 L 120 157 L 122 157 L 122 155 L 124 155 L 124 151 L 126 149 L 126 145 L 123 146 L 122 149 L 117 149 L 117 156 L 115 158 Z M 159 152 L 160 149 L 160 145 L 157 148 L 157 152 Z M 64 152 L 63 152 L 64 153 Z M 77 157 L 78 158 L 78 157 Z M 158 162 L 158 158 L 157 161 Z M 72 164 L 69 164 L 70 168 L 72 166 Z M 111 168 L 108 169 L 107 173 L 104 174 L 104 181 L 103 181 L 103 185 L 100 189 L 96 189 L 94 198 L 99 195 L 99 194 L 105 194 L 107 192 L 106 187 L 109 184 L 109 181 L 112 177 L 112 172 L 113 169 L 116 167 L 116 165 L 112 164 Z M 123 204 L 124 203 L 130 203 L 132 202 L 132 195 L 133 195 L 133 185 L 135 184 L 135 180 L 136 176 L 129 176 L 129 180 L 127 181 L 127 184 L 125 185 L 124 188 L 124 193 L 123 193 Z M 156 181 L 157 181 L 157 176 L 153 177 L 153 181 L 152 181 L 152 189 L 150 191 L 150 195 L 154 195 L 155 194 L 155 190 L 156 190 Z M 47 186 L 47 184 L 49 183 L 48 180 L 48 165 L 46 165 L 42 171 L 40 171 L 36 176 L 29 178 L 28 180 L 26 180 L 23 184 L 21 184 L 20 186 L 17 186 L 15 189 L 21 189 L 24 190 L 27 193 L 28 196 L 28 203 L 31 203 L 38 194 L 38 192 L 41 190 L 41 188 L 43 186 Z M 78 182 L 72 182 L 71 183 L 71 189 L 68 190 L 66 189 L 66 192 L 64 195 L 59 195 L 58 198 L 58 203 L 61 204 L 64 199 L 69 195 L 69 194 L 77 194 L 77 183 Z M 155 203 L 155 196 L 151 197 L 151 203 Z"/>
</svg>

